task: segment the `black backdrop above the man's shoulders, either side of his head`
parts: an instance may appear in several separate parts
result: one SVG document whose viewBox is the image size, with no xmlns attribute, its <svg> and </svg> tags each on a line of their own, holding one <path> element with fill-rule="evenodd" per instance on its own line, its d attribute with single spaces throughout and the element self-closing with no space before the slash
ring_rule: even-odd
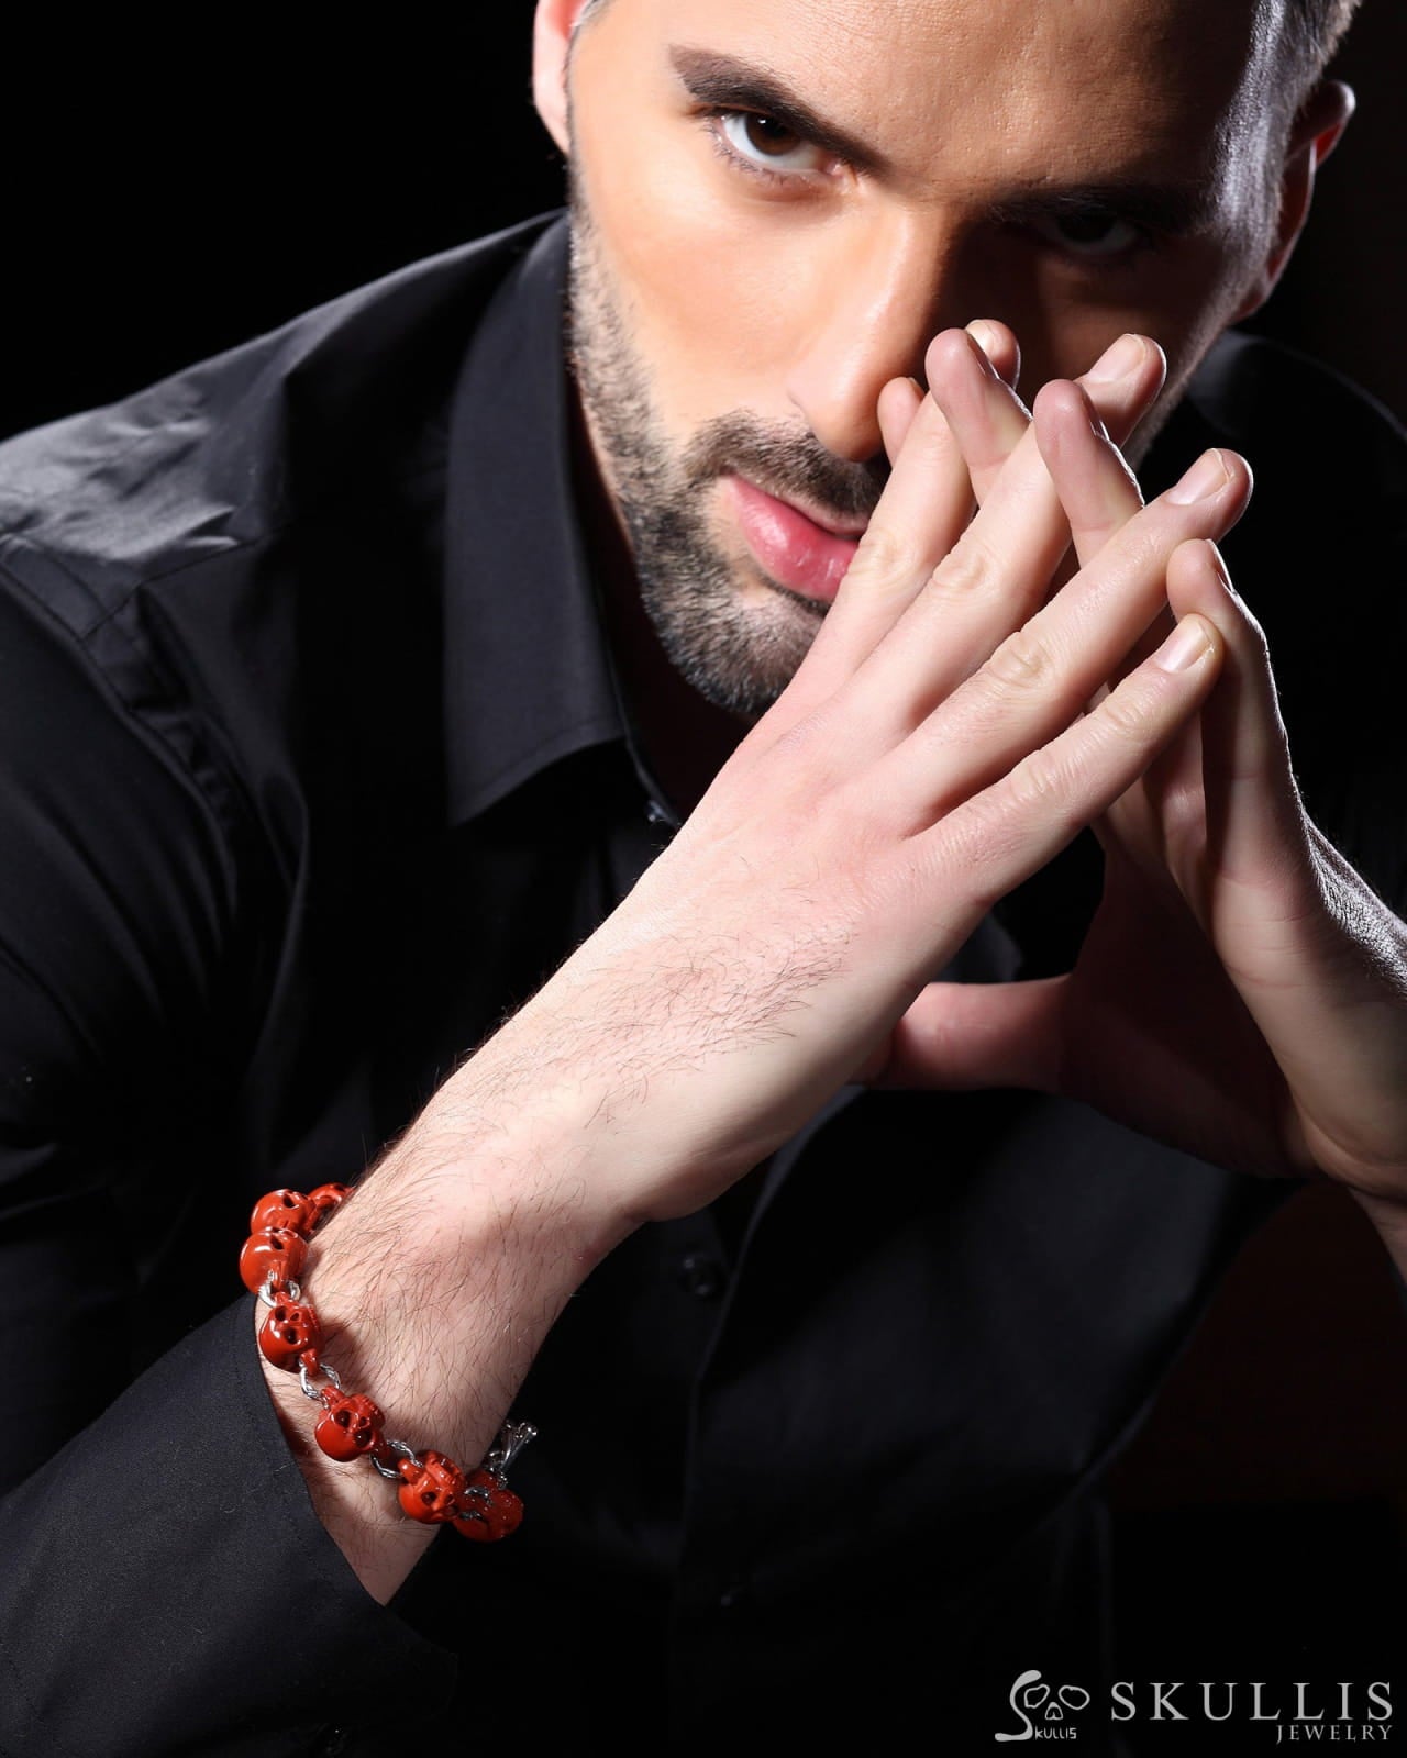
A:
<svg viewBox="0 0 1407 1758">
<path fill-rule="evenodd" d="M 5 25 L 0 432 L 561 199 L 529 0 L 408 4 L 366 32 L 325 7 L 155 16 Z M 1263 327 L 1407 415 L 1402 0 L 1367 0 L 1342 65 L 1363 105 Z"/>
</svg>

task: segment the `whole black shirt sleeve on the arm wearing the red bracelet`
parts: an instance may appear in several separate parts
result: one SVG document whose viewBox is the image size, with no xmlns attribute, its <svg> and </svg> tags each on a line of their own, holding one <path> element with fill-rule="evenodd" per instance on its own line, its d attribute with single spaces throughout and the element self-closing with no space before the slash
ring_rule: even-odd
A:
<svg viewBox="0 0 1407 1758">
<path fill-rule="evenodd" d="M 209 1132 L 230 1078 L 237 875 L 160 737 L 18 589 L 0 849 L 0 1753 L 405 1737 L 454 1663 L 318 1522 L 248 1299 L 169 1347 L 176 1308 L 148 1347 L 164 1246 L 202 1202 L 197 1113 Z"/>
</svg>

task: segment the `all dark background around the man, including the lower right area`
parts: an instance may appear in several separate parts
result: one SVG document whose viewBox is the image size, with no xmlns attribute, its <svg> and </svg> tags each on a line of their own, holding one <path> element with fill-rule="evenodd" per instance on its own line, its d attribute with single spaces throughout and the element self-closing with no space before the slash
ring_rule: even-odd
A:
<svg viewBox="0 0 1407 1758">
<path fill-rule="evenodd" d="M 7 21 L 0 432 L 556 204 L 529 12 L 401 5 L 364 33 L 322 7 Z M 1360 114 L 1258 327 L 1403 417 L 1402 0 L 1367 0 L 1340 70 Z M 1305 1192 L 1243 1253 L 1115 1507 L 1124 1677 L 1391 1679 L 1407 1723 L 1407 1326 L 1349 1201 Z M 1201 1726 L 1143 1740 L 1210 1749 Z"/>
</svg>

